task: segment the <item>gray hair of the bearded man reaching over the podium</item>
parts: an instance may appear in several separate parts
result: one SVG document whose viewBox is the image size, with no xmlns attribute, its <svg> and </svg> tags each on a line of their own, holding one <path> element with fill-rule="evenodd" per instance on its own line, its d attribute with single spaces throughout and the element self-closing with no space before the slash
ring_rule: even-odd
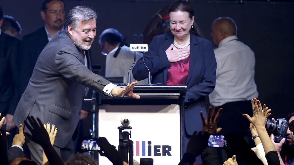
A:
<svg viewBox="0 0 294 165">
<path fill-rule="evenodd" d="M 71 11 L 69 11 L 69 14 L 67 14 L 65 23 L 64 23 L 64 31 L 66 34 L 69 34 L 68 27 L 69 25 L 76 31 L 76 27 L 78 25 L 78 21 L 81 20 L 81 22 L 88 21 L 90 19 L 94 18 L 95 21 L 97 19 L 96 12 L 86 6 L 76 6 Z"/>
</svg>

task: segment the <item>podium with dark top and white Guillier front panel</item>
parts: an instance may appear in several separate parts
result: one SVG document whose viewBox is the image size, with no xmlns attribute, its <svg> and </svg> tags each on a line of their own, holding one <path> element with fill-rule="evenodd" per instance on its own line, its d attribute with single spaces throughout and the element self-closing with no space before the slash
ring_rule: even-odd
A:
<svg viewBox="0 0 294 165">
<path fill-rule="evenodd" d="M 106 137 L 118 149 L 118 127 L 122 125 L 121 118 L 128 117 L 134 160 L 153 158 L 154 164 L 177 164 L 185 152 L 186 90 L 187 86 L 134 86 L 133 92 L 140 99 L 100 95 L 98 136 Z M 111 162 L 99 155 L 99 164 Z"/>
</svg>

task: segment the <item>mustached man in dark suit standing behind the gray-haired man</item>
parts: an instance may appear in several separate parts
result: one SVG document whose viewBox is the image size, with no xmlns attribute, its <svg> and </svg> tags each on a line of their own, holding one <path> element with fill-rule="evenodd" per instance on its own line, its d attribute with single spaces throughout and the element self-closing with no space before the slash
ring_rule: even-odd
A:
<svg viewBox="0 0 294 165">
<path fill-rule="evenodd" d="M 53 36 L 63 29 L 64 1 L 44 0 L 41 7 L 41 16 L 45 25 L 22 39 L 19 55 L 20 95 L 23 94 L 29 83 L 41 51 Z"/>
</svg>

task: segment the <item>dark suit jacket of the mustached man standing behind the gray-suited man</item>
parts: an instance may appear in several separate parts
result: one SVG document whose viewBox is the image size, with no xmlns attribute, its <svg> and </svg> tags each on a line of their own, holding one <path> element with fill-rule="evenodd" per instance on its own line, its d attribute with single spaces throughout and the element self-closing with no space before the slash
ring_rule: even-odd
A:
<svg viewBox="0 0 294 165">
<path fill-rule="evenodd" d="M 32 76 L 37 59 L 48 43 L 45 26 L 22 38 L 19 53 L 19 93 L 24 93 Z"/>
</svg>

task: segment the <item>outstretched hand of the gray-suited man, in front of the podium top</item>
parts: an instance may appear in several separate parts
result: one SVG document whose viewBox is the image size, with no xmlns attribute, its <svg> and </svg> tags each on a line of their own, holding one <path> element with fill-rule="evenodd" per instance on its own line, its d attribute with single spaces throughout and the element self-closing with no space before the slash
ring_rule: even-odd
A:
<svg viewBox="0 0 294 165">
<path fill-rule="evenodd" d="M 111 91 L 111 95 L 118 97 L 133 97 L 139 99 L 140 96 L 133 93 L 133 88 L 138 82 L 133 82 L 131 84 L 126 85 L 125 87 L 114 87 Z"/>
</svg>

